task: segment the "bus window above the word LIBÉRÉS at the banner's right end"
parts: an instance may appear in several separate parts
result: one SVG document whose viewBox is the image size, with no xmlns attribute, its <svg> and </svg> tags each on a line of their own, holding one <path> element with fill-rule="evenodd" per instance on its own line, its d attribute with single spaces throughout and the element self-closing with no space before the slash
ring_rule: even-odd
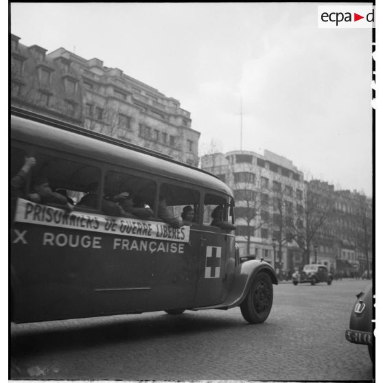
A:
<svg viewBox="0 0 383 383">
<path fill-rule="evenodd" d="M 166 198 L 167 209 L 173 217 L 181 218 L 183 208 L 191 206 L 194 209 L 192 222 L 198 223 L 198 207 L 200 205 L 198 190 L 163 183 L 160 188 L 160 196 Z"/>
</svg>

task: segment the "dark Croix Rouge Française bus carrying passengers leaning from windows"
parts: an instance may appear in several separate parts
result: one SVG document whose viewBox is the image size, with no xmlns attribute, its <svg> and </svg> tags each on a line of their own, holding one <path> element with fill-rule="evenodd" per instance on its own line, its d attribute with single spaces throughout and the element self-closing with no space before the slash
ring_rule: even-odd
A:
<svg viewBox="0 0 383 383">
<path fill-rule="evenodd" d="M 209 172 L 54 118 L 11 108 L 10 177 L 34 156 L 21 193 L 10 197 L 10 321 L 27 323 L 163 310 L 240 306 L 249 323 L 268 317 L 275 270 L 263 259 L 241 263 L 235 232 L 211 226 L 224 209 L 234 223 L 231 189 Z M 71 211 L 33 202 L 34 178 L 65 190 Z M 97 183 L 93 207 L 78 202 Z M 153 216 L 107 215 L 106 196 L 130 191 Z M 159 218 L 159 198 L 194 222 L 174 228 Z"/>
</svg>

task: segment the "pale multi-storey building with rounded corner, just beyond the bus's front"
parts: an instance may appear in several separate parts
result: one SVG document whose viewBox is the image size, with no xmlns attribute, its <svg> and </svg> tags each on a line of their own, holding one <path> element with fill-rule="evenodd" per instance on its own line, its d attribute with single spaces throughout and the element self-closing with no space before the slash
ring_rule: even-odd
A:
<svg viewBox="0 0 383 383">
<path fill-rule="evenodd" d="M 292 222 L 304 219 L 305 182 L 292 161 L 269 150 L 235 150 L 202 156 L 201 167 L 233 190 L 241 257 L 263 257 L 285 270 L 301 266 Z"/>
</svg>

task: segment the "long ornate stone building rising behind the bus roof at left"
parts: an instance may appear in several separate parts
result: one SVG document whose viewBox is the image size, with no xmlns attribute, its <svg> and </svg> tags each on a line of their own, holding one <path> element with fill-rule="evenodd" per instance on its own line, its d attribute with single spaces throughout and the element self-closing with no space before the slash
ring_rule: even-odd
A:
<svg viewBox="0 0 383 383">
<path fill-rule="evenodd" d="M 121 69 L 64 48 L 19 43 L 10 35 L 11 104 L 198 165 L 200 132 L 180 102 Z"/>
</svg>

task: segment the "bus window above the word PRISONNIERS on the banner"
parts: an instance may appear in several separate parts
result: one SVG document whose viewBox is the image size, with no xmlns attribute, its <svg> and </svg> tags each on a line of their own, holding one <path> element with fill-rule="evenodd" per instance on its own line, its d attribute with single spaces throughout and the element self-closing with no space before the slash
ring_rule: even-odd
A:
<svg viewBox="0 0 383 383">
<path fill-rule="evenodd" d="M 36 154 L 32 178 L 44 176 L 53 191 L 65 194 L 74 205 L 89 191 L 89 185 L 100 181 L 100 170 L 85 163 L 68 161 L 58 156 Z M 93 209 L 97 207 L 97 198 Z"/>
</svg>

